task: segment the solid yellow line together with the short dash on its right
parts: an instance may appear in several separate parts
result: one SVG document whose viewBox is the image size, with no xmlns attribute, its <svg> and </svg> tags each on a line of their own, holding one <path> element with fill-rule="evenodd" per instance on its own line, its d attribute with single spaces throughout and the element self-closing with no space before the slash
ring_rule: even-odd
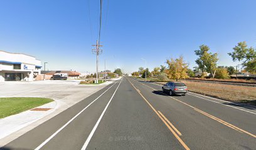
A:
<svg viewBox="0 0 256 150">
<path fill-rule="evenodd" d="M 129 81 L 129 79 L 127 79 Z M 131 83 L 131 81 L 129 81 L 129 83 Z M 135 88 L 134 84 L 131 83 L 131 85 L 134 87 L 134 89 L 136 89 L 136 91 L 141 95 L 141 97 L 146 101 L 147 104 L 149 104 L 149 106 L 151 107 L 151 109 L 157 114 L 157 116 L 164 122 L 164 124 L 167 126 L 167 128 L 171 131 L 171 133 L 173 133 L 173 135 L 175 136 L 176 139 L 178 139 L 179 143 L 181 143 L 181 145 L 186 149 L 189 150 L 188 146 L 183 142 L 183 140 L 181 138 L 179 138 L 179 136 L 181 136 L 181 133 L 178 131 L 178 129 L 176 129 L 173 124 L 171 124 L 171 122 L 160 112 L 160 111 L 156 111 L 156 109 L 154 109 L 154 107 L 149 103 L 149 101 L 147 101 L 147 99 L 141 94 L 141 92 L 139 91 L 139 89 Z M 172 128 L 171 128 L 172 127 Z"/>
</svg>

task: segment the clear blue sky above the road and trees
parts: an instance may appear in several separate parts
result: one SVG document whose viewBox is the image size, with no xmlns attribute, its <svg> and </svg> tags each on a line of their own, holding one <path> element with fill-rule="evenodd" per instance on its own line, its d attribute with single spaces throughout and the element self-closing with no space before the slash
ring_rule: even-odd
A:
<svg viewBox="0 0 256 150">
<path fill-rule="evenodd" d="M 100 0 L 0 0 L 0 50 L 40 59 L 46 70 L 96 71 Z M 238 42 L 256 47 L 255 0 L 103 0 L 99 70 L 124 73 L 165 65 L 183 56 L 196 66 L 201 44 L 219 66 Z M 143 58 L 143 59 L 142 59 Z M 146 60 L 146 62 L 144 61 Z"/>
</svg>

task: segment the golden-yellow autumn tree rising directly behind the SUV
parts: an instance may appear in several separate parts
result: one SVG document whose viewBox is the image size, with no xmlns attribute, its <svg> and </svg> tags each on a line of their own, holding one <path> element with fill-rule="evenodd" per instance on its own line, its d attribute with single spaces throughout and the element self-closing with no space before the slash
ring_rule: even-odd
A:
<svg viewBox="0 0 256 150">
<path fill-rule="evenodd" d="M 168 74 L 169 79 L 185 79 L 188 78 L 186 71 L 188 70 L 188 64 L 184 63 L 183 56 L 179 56 L 177 59 L 171 58 L 166 60 L 168 64 L 168 69 L 166 73 Z"/>
</svg>

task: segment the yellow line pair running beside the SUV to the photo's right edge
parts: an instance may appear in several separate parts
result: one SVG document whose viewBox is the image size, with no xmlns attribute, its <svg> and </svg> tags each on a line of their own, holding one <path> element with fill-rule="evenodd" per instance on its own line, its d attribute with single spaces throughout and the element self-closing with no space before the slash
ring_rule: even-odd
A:
<svg viewBox="0 0 256 150">
<path fill-rule="evenodd" d="M 135 81 L 136 81 L 136 80 L 135 80 Z M 138 82 L 138 83 L 139 83 L 139 82 Z M 143 84 L 143 83 L 141 83 L 141 84 Z M 144 86 L 147 86 L 146 84 L 143 84 L 143 85 L 144 85 Z M 147 87 L 153 89 L 154 91 L 157 91 L 156 89 L 154 89 L 154 88 L 152 88 L 152 87 L 150 87 L 150 86 L 147 86 Z M 162 93 L 162 92 L 160 92 L 160 91 L 157 91 L 157 92 Z M 165 93 L 162 93 L 162 94 L 168 96 L 168 94 L 165 94 Z M 241 129 L 241 128 L 238 128 L 237 126 L 234 126 L 233 124 L 227 123 L 226 121 L 223 121 L 223 120 L 221 120 L 221 119 L 219 119 L 219 118 L 216 118 L 215 116 L 212 116 L 212 115 L 210 115 L 210 114 L 208 114 L 208 113 L 205 113 L 205 111 L 201 111 L 200 109 L 195 108 L 195 107 L 193 107 L 193 106 L 191 106 L 191 105 L 189 105 L 189 104 L 187 104 L 187 103 L 184 103 L 183 101 L 180 101 L 179 99 L 173 98 L 173 97 L 171 97 L 171 96 L 169 96 L 168 98 L 172 98 L 172 99 L 174 99 L 174 100 L 176 100 L 176 101 L 178 101 L 178 102 L 180 102 L 180 103 L 183 103 L 183 104 L 185 104 L 186 106 L 189 106 L 190 108 L 193 108 L 195 111 L 198 111 L 198 112 L 200 112 L 201 114 L 203 114 L 203 115 L 205 115 L 205 116 L 208 116 L 208 117 L 211 118 L 211 119 L 215 118 L 215 119 L 214 119 L 215 121 L 218 121 L 218 120 L 219 120 L 219 121 L 218 121 L 219 123 L 224 124 L 225 126 L 228 126 L 229 128 L 232 128 L 232 129 L 235 128 L 236 131 L 240 131 L 240 132 L 242 132 L 242 133 L 248 134 L 249 136 L 252 136 L 253 138 L 256 138 L 256 135 L 254 135 L 254 134 L 252 134 L 252 133 L 249 133 L 248 131 L 245 131 L 245 130 L 243 130 L 243 129 Z M 218 119 L 218 120 L 217 120 L 217 119 Z"/>
</svg>

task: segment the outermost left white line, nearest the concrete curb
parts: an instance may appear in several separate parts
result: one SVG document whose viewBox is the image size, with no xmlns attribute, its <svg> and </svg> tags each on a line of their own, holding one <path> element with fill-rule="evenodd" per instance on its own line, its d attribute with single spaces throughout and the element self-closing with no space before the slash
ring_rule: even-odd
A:
<svg viewBox="0 0 256 150">
<path fill-rule="evenodd" d="M 112 85 L 114 86 L 115 83 Z M 110 88 L 112 88 L 112 86 L 110 86 L 106 91 L 104 91 L 104 93 L 106 93 Z M 104 93 L 100 94 L 100 96 L 102 96 Z M 100 98 L 100 96 L 96 99 L 94 99 L 92 101 L 92 103 L 94 103 L 97 99 Z M 56 134 L 60 133 L 60 131 L 62 129 L 64 129 L 66 126 L 68 126 L 68 124 L 70 124 L 75 118 L 77 118 L 77 116 L 79 116 L 79 114 L 83 113 L 83 111 L 85 111 L 85 109 L 87 109 L 92 103 L 88 104 L 85 108 L 83 108 L 82 111 L 80 111 L 78 114 L 76 114 L 72 119 L 70 119 L 70 121 L 68 121 L 66 124 L 64 124 L 64 126 L 62 126 L 60 129 L 58 129 L 55 133 L 53 133 L 48 139 L 46 139 L 43 143 L 40 144 L 40 146 L 38 146 L 35 150 L 39 150 L 41 149 L 46 143 L 48 143 L 54 136 L 56 136 Z"/>
</svg>

